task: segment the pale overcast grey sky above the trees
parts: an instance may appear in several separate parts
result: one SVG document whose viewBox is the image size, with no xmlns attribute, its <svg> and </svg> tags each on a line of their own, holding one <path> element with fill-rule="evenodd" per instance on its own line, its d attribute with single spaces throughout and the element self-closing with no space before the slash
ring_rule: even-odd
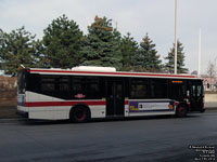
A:
<svg viewBox="0 0 217 162">
<path fill-rule="evenodd" d="M 175 0 L 0 0 L 0 28 L 26 27 L 37 38 L 52 19 L 65 14 L 87 33 L 95 15 L 117 22 L 122 35 L 140 42 L 148 32 L 162 59 L 175 40 Z M 217 58 L 217 0 L 178 0 L 178 36 L 190 72 L 197 69 L 199 30 L 202 29 L 202 72 Z"/>
</svg>

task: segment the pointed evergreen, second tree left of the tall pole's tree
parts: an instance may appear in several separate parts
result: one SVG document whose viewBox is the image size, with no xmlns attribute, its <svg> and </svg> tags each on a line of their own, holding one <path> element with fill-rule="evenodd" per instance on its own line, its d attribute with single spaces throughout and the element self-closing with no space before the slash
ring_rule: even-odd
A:
<svg viewBox="0 0 217 162">
<path fill-rule="evenodd" d="M 146 33 L 136 55 L 137 69 L 151 72 L 158 72 L 162 70 L 162 60 L 159 59 L 155 46 L 156 45 Z"/>
</svg>

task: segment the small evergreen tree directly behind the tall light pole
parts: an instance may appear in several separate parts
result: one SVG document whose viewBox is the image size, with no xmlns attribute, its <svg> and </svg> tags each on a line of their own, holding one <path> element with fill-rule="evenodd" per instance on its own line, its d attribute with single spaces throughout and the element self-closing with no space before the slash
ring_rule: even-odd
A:
<svg viewBox="0 0 217 162">
<path fill-rule="evenodd" d="M 174 73 L 174 63 L 175 63 L 175 43 L 174 46 L 170 49 L 168 56 L 165 57 L 167 63 L 165 64 L 165 68 L 167 72 Z M 178 41 L 177 44 L 177 73 L 187 73 L 188 69 L 184 68 L 184 52 L 182 43 Z"/>
</svg>

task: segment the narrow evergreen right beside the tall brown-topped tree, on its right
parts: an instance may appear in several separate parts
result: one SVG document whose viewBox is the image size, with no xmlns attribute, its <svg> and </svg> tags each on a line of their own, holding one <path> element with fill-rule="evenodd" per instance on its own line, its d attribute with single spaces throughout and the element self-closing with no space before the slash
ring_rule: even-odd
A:
<svg viewBox="0 0 217 162">
<path fill-rule="evenodd" d="M 123 55 L 123 68 L 122 70 L 131 70 L 135 63 L 135 55 L 138 52 L 138 43 L 130 37 L 130 33 L 127 32 L 127 36 L 124 36 L 122 39 L 122 55 Z"/>
</svg>

